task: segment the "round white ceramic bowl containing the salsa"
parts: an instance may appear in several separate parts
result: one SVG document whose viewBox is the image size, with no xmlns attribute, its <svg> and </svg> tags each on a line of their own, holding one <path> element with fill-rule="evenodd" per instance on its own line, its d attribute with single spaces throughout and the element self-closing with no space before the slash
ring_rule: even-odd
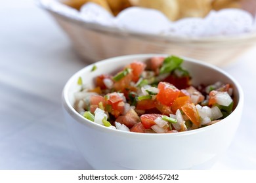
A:
<svg viewBox="0 0 256 183">
<path fill-rule="evenodd" d="M 180 133 L 132 133 L 95 124 L 73 108 L 74 92 L 79 90 L 77 79 L 88 86 L 102 73 L 114 73 L 135 59 L 145 61 L 153 56 L 131 55 L 99 61 L 78 71 L 68 80 L 62 102 L 68 129 L 84 158 L 95 169 L 209 169 L 227 150 L 236 133 L 244 96 L 239 84 L 221 69 L 201 61 L 184 58 L 183 66 L 190 71 L 193 84 L 217 81 L 232 84 L 236 108 L 217 124 Z"/>
</svg>

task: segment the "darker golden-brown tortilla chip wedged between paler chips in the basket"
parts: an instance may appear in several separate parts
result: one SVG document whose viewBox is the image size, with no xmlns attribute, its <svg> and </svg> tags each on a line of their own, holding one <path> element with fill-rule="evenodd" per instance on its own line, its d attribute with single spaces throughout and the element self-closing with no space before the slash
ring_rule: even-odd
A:
<svg viewBox="0 0 256 183">
<path fill-rule="evenodd" d="M 113 14 L 116 16 L 121 10 L 131 7 L 129 0 L 106 0 Z"/>
</svg>

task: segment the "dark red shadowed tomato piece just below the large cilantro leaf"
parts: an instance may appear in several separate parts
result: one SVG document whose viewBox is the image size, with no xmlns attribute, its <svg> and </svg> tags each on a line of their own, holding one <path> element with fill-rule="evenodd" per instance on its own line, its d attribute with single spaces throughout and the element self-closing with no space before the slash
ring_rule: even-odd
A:
<svg viewBox="0 0 256 183">
<path fill-rule="evenodd" d="M 163 82 L 169 82 L 176 86 L 179 90 L 188 88 L 190 86 L 190 77 L 189 76 L 182 76 L 177 77 L 175 75 L 169 75 L 167 78 L 163 80 Z"/>
</svg>

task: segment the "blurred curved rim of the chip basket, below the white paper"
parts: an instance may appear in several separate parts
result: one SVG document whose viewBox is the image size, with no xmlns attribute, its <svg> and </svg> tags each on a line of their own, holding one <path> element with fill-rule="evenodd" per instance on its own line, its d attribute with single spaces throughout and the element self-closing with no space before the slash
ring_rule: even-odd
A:
<svg viewBox="0 0 256 183">
<path fill-rule="evenodd" d="M 112 35 L 114 37 L 131 37 L 140 39 L 142 41 L 157 41 L 157 42 L 175 42 L 175 43 L 193 43 L 193 44 L 234 44 L 234 42 L 248 41 L 255 42 L 256 40 L 256 31 L 252 31 L 251 33 L 241 33 L 239 35 L 218 35 L 218 36 L 209 36 L 209 37 L 190 37 L 190 36 L 181 36 L 181 35 L 154 35 L 150 33 L 140 33 L 137 31 L 129 31 L 125 29 L 119 29 L 117 27 L 104 26 L 100 24 L 96 24 L 93 22 L 85 22 L 79 18 L 72 18 L 67 14 L 55 10 L 51 8 L 45 3 L 43 0 L 37 0 L 39 7 L 47 10 L 54 16 L 61 18 L 64 21 L 72 22 L 76 25 L 85 27 L 85 29 L 89 29 L 91 31 L 96 31 L 97 33 L 102 33 L 105 35 Z M 48 1 L 56 1 L 56 0 L 48 0 Z"/>
</svg>

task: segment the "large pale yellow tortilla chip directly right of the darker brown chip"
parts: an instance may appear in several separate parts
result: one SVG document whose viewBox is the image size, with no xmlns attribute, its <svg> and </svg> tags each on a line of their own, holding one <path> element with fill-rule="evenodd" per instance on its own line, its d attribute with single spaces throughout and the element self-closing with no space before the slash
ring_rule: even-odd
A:
<svg viewBox="0 0 256 183">
<path fill-rule="evenodd" d="M 169 18 L 169 20 L 177 20 L 179 17 L 179 0 L 130 0 L 132 5 L 154 8 L 160 10 Z"/>
</svg>

